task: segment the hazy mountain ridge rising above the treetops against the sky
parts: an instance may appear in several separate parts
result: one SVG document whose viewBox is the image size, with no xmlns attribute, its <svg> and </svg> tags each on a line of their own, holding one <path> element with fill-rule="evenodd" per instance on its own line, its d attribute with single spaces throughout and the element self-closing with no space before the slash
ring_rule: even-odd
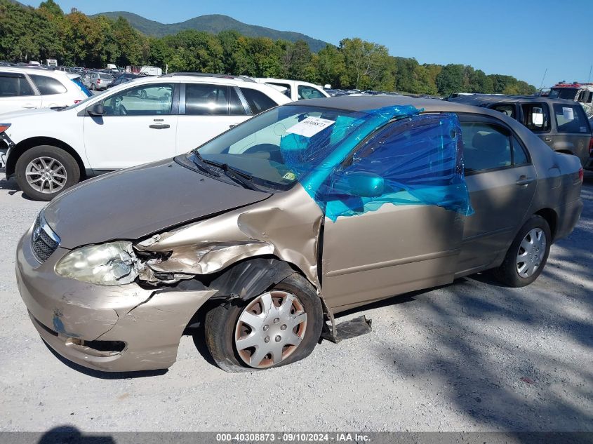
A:
<svg viewBox="0 0 593 444">
<path fill-rule="evenodd" d="M 128 20 L 128 22 L 130 22 L 130 24 L 135 27 L 135 29 L 138 29 L 138 31 L 142 32 L 142 34 L 156 37 L 162 37 L 168 34 L 177 34 L 178 32 L 185 29 L 195 29 L 196 31 L 205 31 L 212 34 L 218 34 L 221 31 L 234 29 L 240 34 L 249 37 L 269 37 L 270 39 L 274 40 L 282 39 L 293 42 L 297 40 L 303 40 L 309 44 L 311 51 L 316 53 L 321 48 L 324 48 L 327 44 L 325 41 L 314 39 L 313 37 L 307 36 L 306 34 L 302 34 L 300 32 L 279 31 L 278 29 L 272 29 L 258 25 L 248 25 L 247 23 L 239 22 L 239 20 L 235 20 L 228 15 L 222 14 L 198 15 L 197 17 L 178 23 L 156 22 L 155 20 L 149 20 L 145 17 L 142 17 L 142 15 L 130 13 L 127 11 L 107 11 L 104 13 L 91 15 L 91 17 L 95 17 L 97 15 L 105 15 L 105 17 L 111 19 L 116 19 L 121 15 L 121 17 L 126 18 L 126 20 Z"/>
</svg>

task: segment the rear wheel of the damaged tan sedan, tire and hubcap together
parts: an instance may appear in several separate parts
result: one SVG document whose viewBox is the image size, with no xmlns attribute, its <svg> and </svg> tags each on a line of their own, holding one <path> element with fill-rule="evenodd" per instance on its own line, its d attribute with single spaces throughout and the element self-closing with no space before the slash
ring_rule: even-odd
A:
<svg viewBox="0 0 593 444">
<path fill-rule="evenodd" d="M 517 233 L 500 267 L 493 270 L 495 278 L 509 287 L 529 285 L 540 276 L 551 243 L 549 224 L 533 215 Z"/>
</svg>

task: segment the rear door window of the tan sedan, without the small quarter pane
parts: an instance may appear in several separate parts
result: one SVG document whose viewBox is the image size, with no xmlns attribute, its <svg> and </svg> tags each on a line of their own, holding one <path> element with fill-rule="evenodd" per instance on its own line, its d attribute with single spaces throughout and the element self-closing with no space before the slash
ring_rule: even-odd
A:
<svg viewBox="0 0 593 444">
<path fill-rule="evenodd" d="M 466 172 L 512 165 L 510 135 L 488 123 L 461 123 L 463 163 Z"/>
</svg>

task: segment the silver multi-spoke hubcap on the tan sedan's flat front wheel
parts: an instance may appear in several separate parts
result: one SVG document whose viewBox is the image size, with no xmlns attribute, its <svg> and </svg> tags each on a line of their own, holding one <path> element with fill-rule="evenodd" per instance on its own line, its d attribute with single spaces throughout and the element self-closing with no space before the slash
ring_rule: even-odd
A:
<svg viewBox="0 0 593 444">
<path fill-rule="evenodd" d="M 271 367 L 293 354 L 306 329 L 307 314 L 298 297 L 272 290 L 241 312 L 235 327 L 236 351 L 250 367 Z"/>
</svg>

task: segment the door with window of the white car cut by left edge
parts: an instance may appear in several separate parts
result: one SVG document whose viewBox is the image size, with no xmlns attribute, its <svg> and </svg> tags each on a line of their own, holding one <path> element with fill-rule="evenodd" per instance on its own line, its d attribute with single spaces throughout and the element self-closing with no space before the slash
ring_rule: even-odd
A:
<svg viewBox="0 0 593 444">
<path fill-rule="evenodd" d="M 41 96 L 25 74 L 0 72 L 0 113 L 39 107 Z"/>
</svg>

